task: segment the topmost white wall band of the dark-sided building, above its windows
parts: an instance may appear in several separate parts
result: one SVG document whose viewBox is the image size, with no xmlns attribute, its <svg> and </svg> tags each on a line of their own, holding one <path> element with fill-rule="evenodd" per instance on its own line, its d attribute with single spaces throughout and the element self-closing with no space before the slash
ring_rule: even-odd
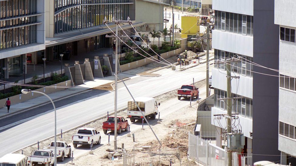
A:
<svg viewBox="0 0 296 166">
<path fill-rule="evenodd" d="M 244 15 L 253 15 L 254 0 L 213 0 L 213 9 Z"/>
</svg>

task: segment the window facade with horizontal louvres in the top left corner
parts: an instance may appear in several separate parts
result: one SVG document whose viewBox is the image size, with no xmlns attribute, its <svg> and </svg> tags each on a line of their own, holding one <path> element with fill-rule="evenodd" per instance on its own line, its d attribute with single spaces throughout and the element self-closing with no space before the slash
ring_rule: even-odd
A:
<svg viewBox="0 0 296 166">
<path fill-rule="evenodd" d="M 0 50 L 36 43 L 37 0 L 0 2 Z"/>
</svg>

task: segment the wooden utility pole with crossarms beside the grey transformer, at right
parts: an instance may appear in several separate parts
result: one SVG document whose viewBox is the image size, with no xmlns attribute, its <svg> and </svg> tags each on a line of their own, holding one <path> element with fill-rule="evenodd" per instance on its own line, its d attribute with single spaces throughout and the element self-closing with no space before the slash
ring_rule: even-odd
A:
<svg viewBox="0 0 296 166">
<path fill-rule="evenodd" d="M 208 23 L 207 23 L 208 24 Z M 241 57 L 238 57 L 237 59 L 235 58 L 229 58 L 226 59 L 225 61 L 221 61 L 221 60 L 217 60 L 217 62 L 215 62 L 215 64 L 224 64 L 226 65 L 226 73 L 227 73 L 227 98 L 222 98 L 223 100 L 227 100 L 227 116 L 228 117 L 232 117 L 232 111 L 231 111 L 231 107 L 232 107 L 232 103 L 231 103 L 231 99 L 239 99 L 242 97 L 231 97 L 231 78 L 240 78 L 239 76 L 231 76 L 231 67 L 230 67 L 230 63 L 231 62 L 235 62 L 235 61 L 239 61 L 241 60 Z M 221 100 L 221 99 L 220 99 Z M 215 115 L 214 115 L 215 116 Z M 231 130 L 231 118 L 227 118 L 227 135 L 231 135 L 232 134 L 232 130 Z M 232 151 L 230 149 L 227 150 L 227 166 L 232 166 Z"/>
</svg>

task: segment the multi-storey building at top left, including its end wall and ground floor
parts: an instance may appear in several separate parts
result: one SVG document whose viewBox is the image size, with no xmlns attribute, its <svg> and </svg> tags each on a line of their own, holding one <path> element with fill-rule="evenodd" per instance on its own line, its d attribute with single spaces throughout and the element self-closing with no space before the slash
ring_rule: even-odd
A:
<svg viewBox="0 0 296 166">
<path fill-rule="evenodd" d="M 45 0 L 1 0 L 0 66 L 2 72 L 7 68 L 5 77 L 26 72 L 26 62 L 31 61 L 26 55 L 44 49 Z"/>
</svg>

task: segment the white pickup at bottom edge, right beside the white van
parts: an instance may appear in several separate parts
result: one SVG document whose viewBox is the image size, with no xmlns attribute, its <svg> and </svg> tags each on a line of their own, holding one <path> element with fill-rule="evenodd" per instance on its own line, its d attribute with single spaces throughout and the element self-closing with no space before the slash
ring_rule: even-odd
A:
<svg viewBox="0 0 296 166">
<path fill-rule="evenodd" d="M 28 163 L 32 166 L 37 164 L 49 166 L 53 165 L 54 162 L 55 158 L 51 151 L 33 150 L 31 152 L 31 156 L 28 157 Z"/>
</svg>

